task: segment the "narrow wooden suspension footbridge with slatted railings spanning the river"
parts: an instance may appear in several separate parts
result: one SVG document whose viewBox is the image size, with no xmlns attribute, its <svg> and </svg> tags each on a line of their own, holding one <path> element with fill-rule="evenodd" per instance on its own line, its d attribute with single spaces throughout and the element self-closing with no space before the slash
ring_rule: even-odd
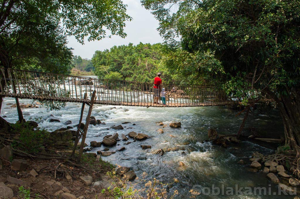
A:
<svg viewBox="0 0 300 199">
<path fill-rule="evenodd" d="M 95 90 L 94 104 L 162 106 L 153 104 L 154 84 L 147 82 L 5 68 L 0 68 L 0 80 L 0 95 L 7 97 L 90 103 Z M 258 93 L 244 93 L 243 98 L 237 98 L 234 93 L 226 95 L 223 89 L 214 85 L 163 84 L 163 87 L 166 89 L 167 107 L 229 105 L 237 104 L 243 98 L 258 97 Z M 87 98 L 84 98 L 85 93 Z"/>
</svg>

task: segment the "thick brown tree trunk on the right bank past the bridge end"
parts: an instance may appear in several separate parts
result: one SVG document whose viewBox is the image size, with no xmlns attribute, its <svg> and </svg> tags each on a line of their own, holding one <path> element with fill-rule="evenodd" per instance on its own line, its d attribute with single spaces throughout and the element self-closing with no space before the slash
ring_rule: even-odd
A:
<svg viewBox="0 0 300 199">
<path fill-rule="evenodd" d="M 283 120 L 285 145 L 297 152 L 300 157 L 300 95 L 296 89 L 286 89 L 285 95 L 277 98 L 273 94 L 272 98 L 276 101 L 280 109 Z"/>
</svg>

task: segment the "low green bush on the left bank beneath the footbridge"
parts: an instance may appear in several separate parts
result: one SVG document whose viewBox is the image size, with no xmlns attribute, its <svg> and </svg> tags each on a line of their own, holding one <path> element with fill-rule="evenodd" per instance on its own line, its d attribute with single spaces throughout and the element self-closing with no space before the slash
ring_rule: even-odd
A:
<svg viewBox="0 0 300 199">
<path fill-rule="evenodd" d="M 41 151 L 43 146 L 50 144 L 50 133 L 46 130 L 32 127 L 29 123 L 11 124 L 12 133 L 20 134 L 19 141 L 14 140 L 13 148 L 19 148 L 29 153 Z"/>
</svg>

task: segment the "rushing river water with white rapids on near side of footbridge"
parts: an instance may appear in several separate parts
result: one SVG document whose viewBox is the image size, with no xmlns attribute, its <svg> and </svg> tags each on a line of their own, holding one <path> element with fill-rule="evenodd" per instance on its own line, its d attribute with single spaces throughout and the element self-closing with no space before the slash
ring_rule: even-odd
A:
<svg viewBox="0 0 300 199">
<path fill-rule="evenodd" d="M 30 100 L 20 100 L 20 103 L 30 103 Z M 4 98 L 1 116 L 6 116 L 9 122 L 15 122 L 18 119 L 16 108 L 7 108 L 7 103 L 15 103 L 13 98 Z M 81 104 L 67 103 L 66 107 L 59 111 L 48 111 L 44 107 L 24 109 L 23 114 L 26 120 L 34 118 L 39 119 L 39 126 L 52 131 L 61 127 L 66 127 L 64 122 L 71 120 L 75 125 L 79 121 Z M 85 109 L 85 116 L 87 114 Z M 49 122 L 50 115 L 60 119 L 58 122 Z M 125 151 L 117 151 L 104 160 L 113 164 L 131 167 L 141 179 L 143 172 L 148 176 L 146 180 L 156 178 L 164 183 L 172 182 L 177 178 L 179 183 L 168 187 L 168 191 L 179 191 L 178 198 L 189 198 L 190 189 L 201 190 L 203 187 L 233 187 L 238 184 L 239 187 L 267 187 L 270 182 L 262 173 L 251 173 L 247 171 L 249 165 L 240 165 L 237 162 L 240 159 L 247 160 L 254 151 L 263 154 L 272 153 L 271 149 L 253 144 L 251 142 L 242 142 L 239 145 L 233 145 L 229 148 L 211 145 L 205 142 L 209 128 L 216 128 L 219 133 L 232 134 L 238 131 L 243 116 L 235 117 L 236 112 L 232 112 L 225 107 L 188 107 L 188 108 L 163 108 L 163 107 L 123 107 L 95 105 L 92 116 L 104 121 L 106 125 L 90 125 L 88 128 L 86 143 L 90 141 L 101 142 L 107 134 L 115 132 L 128 134 L 130 131 L 145 133 L 152 136 L 151 139 L 132 142 L 124 145 L 125 141 L 119 141 L 118 145 L 111 147 L 111 150 L 117 150 L 122 146 Z M 275 110 L 268 112 L 268 115 L 262 113 L 250 114 L 249 120 L 245 125 L 255 127 L 256 131 L 263 134 L 280 134 L 283 127 L 278 113 Z M 164 133 L 157 132 L 160 126 L 155 122 L 162 121 L 169 124 L 172 121 L 180 121 L 182 127 L 171 129 L 169 126 L 163 128 Z M 131 122 L 122 124 L 124 130 L 113 130 L 110 127 L 121 124 L 122 122 Z M 136 124 L 136 125 L 133 125 Z M 107 130 L 109 128 L 109 130 Z M 173 135 L 173 136 L 170 136 Z M 128 141 L 132 141 L 129 139 Z M 188 145 L 184 142 L 188 142 Z M 140 145 L 151 145 L 152 149 L 143 150 Z M 150 151 L 159 148 L 170 148 L 181 146 L 180 151 L 170 151 L 163 156 L 151 154 Z M 95 148 L 91 152 L 102 150 L 104 147 Z M 186 169 L 179 168 L 179 161 L 186 165 Z M 135 180 L 135 182 L 139 182 Z M 139 186 L 139 185 L 137 185 Z M 272 192 L 277 191 L 277 187 L 271 186 Z M 226 192 L 226 189 L 225 189 Z M 276 195 L 204 195 L 197 198 L 292 198 L 291 196 Z"/>
</svg>

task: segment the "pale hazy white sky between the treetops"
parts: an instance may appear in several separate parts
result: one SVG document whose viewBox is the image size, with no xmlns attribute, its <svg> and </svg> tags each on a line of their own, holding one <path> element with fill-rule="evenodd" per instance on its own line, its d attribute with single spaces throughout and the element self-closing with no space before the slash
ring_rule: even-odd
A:
<svg viewBox="0 0 300 199">
<path fill-rule="evenodd" d="M 88 42 L 86 39 L 84 45 L 78 43 L 75 37 L 70 37 L 68 46 L 74 48 L 74 55 L 91 59 L 96 50 L 109 49 L 114 45 L 163 42 L 156 30 L 159 25 L 158 21 L 149 10 L 142 7 L 140 0 L 123 0 L 123 2 L 128 5 L 127 14 L 133 18 L 131 22 L 126 22 L 125 32 L 127 37 L 122 39 L 121 37 L 113 36 L 112 38 L 104 38 L 93 42 Z"/>
</svg>

